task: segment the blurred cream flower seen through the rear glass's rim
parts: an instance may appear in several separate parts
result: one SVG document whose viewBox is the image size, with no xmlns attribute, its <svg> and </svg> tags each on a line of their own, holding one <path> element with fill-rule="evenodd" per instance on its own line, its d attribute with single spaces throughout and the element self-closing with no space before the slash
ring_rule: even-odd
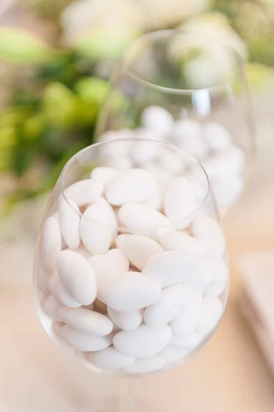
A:
<svg viewBox="0 0 274 412">
<path fill-rule="evenodd" d="M 203 14 L 181 25 L 184 32 L 170 45 L 170 57 L 177 62 L 191 56 L 183 67 L 189 87 L 200 89 L 229 80 L 235 70 L 235 52 L 247 57 L 244 41 L 219 13 Z"/>
</svg>

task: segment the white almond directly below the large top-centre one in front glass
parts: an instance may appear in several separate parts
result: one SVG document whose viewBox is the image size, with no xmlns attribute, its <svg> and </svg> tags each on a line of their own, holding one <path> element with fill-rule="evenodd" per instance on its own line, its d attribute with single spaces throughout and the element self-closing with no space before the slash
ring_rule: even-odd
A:
<svg viewBox="0 0 274 412">
<path fill-rule="evenodd" d="M 154 240 L 158 240 L 159 229 L 170 226 L 170 221 L 163 214 L 141 203 L 125 203 L 119 209 L 119 218 L 131 233 Z"/>
</svg>

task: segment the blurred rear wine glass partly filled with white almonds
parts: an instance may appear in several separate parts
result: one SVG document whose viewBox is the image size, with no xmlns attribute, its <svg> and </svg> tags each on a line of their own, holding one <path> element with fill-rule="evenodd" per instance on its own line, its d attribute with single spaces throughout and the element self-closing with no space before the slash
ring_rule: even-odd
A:
<svg viewBox="0 0 274 412">
<path fill-rule="evenodd" d="M 225 214 L 242 193 L 255 153 L 240 54 L 194 29 L 140 36 L 113 71 L 96 139 L 122 137 L 124 129 L 193 155 Z"/>
</svg>

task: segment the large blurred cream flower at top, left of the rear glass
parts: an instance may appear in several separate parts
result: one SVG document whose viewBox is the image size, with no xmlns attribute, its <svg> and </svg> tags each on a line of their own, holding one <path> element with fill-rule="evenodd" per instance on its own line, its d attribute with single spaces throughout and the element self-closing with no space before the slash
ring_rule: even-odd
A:
<svg viewBox="0 0 274 412">
<path fill-rule="evenodd" d="M 78 0 L 61 17 L 63 42 L 95 58 L 115 58 L 143 24 L 133 0 Z"/>
</svg>

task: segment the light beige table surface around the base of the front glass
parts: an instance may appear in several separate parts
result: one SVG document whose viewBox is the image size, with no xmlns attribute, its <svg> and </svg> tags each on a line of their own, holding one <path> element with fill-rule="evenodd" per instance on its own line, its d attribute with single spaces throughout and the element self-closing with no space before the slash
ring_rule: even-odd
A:
<svg viewBox="0 0 274 412">
<path fill-rule="evenodd" d="M 269 110 L 269 104 L 264 107 Z M 155 411 L 274 411 L 274 380 L 238 309 L 239 253 L 274 248 L 274 121 L 260 111 L 262 104 L 252 183 L 225 219 L 231 259 L 225 317 L 212 340 L 185 365 L 137 381 L 136 391 L 155 404 Z M 98 398 L 117 391 L 118 382 L 84 369 L 43 331 L 32 299 L 33 244 L 26 242 L 21 249 L 20 242 L 0 245 L 0 412 L 94 411 Z"/>
</svg>

